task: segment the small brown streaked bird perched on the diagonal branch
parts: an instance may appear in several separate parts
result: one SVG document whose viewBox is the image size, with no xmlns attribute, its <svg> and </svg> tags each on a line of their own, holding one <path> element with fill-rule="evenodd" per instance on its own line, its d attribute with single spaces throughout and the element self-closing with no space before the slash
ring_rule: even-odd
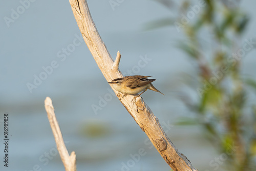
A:
<svg viewBox="0 0 256 171">
<path fill-rule="evenodd" d="M 113 79 L 111 82 L 108 82 L 108 83 L 112 84 L 113 88 L 116 91 L 124 93 L 123 97 L 125 97 L 127 94 L 137 94 L 142 91 L 143 91 L 142 93 L 144 93 L 147 89 L 161 93 L 151 83 L 156 79 L 148 79 L 148 77 L 151 77 L 151 76 L 143 76 L 143 75 L 125 76 L 122 78 Z M 140 93 L 138 96 L 140 96 L 142 93 Z M 164 95 L 163 93 L 161 94 Z M 138 96 L 135 96 L 135 98 Z"/>
</svg>

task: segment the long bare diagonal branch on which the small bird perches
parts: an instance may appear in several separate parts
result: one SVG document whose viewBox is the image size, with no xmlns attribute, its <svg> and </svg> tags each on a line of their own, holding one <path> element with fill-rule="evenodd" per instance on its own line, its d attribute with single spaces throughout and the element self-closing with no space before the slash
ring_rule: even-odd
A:
<svg viewBox="0 0 256 171">
<path fill-rule="evenodd" d="M 70 5 L 83 39 L 105 79 L 109 82 L 122 77 L 121 72 L 118 71 L 121 56 L 117 55 L 116 61 L 113 61 L 95 27 L 87 2 L 84 0 L 70 0 Z M 114 89 L 113 91 L 173 170 L 196 170 L 169 140 L 158 119 L 141 97 L 137 97 L 133 102 L 134 95 L 127 95 L 122 98 L 120 93 Z"/>
</svg>

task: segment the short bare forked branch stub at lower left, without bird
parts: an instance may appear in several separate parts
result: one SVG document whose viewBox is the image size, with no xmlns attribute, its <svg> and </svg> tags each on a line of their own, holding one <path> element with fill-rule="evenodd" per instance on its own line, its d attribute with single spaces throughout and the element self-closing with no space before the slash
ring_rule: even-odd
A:
<svg viewBox="0 0 256 171">
<path fill-rule="evenodd" d="M 55 138 L 55 142 L 57 144 L 57 149 L 60 155 L 60 158 L 63 162 L 66 171 L 76 171 L 76 154 L 72 152 L 69 156 L 69 152 L 66 148 L 66 145 L 63 141 L 63 137 L 59 128 L 58 121 L 55 117 L 54 108 L 52 105 L 52 100 L 50 97 L 46 97 L 45 100 L 45 108 L 47 112 L 47 116 L 52 128 L 52 133 Z"/>
</svg>

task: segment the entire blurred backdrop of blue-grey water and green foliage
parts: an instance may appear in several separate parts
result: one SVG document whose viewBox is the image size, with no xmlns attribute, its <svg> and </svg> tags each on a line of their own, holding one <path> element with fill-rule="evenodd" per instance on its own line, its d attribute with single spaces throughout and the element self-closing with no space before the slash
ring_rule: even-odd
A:
<svg viewBox="0 0 256 171">
<path fill-rule="evenodd" d="M 256 2 L 88 5 L 112 57 L 120 51 L 123 75 L 156 79 L 165 96 L 142 97 L 194 167 L 255 168 Z M 1 161 L 1 170 L 65 170 L 47 96 L 69 153 L 76 152 L 77 170 L 170 170 L 113 94 L 68 1 L 4 1 L 0 8 L 1 140 L 5 113 L 10 135 L 9 165 Z"/>
</svg>

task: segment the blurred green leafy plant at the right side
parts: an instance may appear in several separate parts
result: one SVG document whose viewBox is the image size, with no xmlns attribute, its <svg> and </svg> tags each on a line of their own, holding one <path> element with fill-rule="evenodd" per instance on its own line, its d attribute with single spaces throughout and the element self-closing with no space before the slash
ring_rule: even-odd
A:
<svg viewBox="0 0 256 171">
<path fill-rule="evenodd" d="M 162 0 L 161 4 L 175 4 L 167 1 Z M 191 17 L 193 12 L 194 17 Z M 255 169 L 256 105 L 255 102 L 251 104 L 249 95 L 252 92 L 247 88 L 255 91 L 256 81 L 244 79 L 241 73 L 241 60 L 254 47 L 249 46 L 248 39 L 242 45 L 239 40 L 249 22 L 248 15 L 235 0 L 204 0 L 198 4 L 183 0 L 178 17 L 165 20 L 155 21 L 148 28 L 169 25 L 176 27 L 178 32 L 182 30 L 186 40 L 180 40 L 178 47 L 198 66 L 199 87 L 193 89 L 197 90 L 199 99 L 187 106 L 196 111 L 197 117 L 181 118 L 178 124 L 201 124 L 206 138 L 220 155 L 226 156 L 223 168 Z M 175 22 L 170 23 L 172 20 Z M 207 49 L 200 39 L 202 30 L 214 35 L 210 41 L 215 46 L 207 54 L 209 56 L 205 55 Z"/>
</svg>

